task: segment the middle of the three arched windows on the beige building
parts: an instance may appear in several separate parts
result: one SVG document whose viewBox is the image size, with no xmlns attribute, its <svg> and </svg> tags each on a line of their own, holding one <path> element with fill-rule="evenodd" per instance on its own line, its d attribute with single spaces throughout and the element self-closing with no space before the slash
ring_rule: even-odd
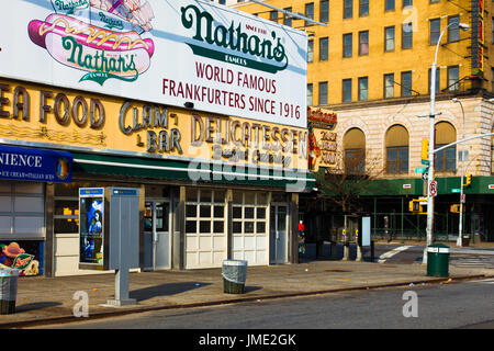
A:
<svg viewBox="0 0 494 351">
<path fill-rule="evenodd" d="M 385 137 L 386 172 L 408 173 L 408 131 L 402 125 L 393 125 Z"/>
</svg>

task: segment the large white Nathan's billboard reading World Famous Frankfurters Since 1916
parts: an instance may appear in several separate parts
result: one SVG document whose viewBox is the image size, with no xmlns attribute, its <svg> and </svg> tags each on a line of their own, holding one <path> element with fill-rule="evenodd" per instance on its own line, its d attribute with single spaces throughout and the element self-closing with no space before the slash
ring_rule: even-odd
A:
<svg viewBox="0 0 494 351">
<path fill-rule="evenodd" d="M 5 78 L 306 127 L 306 34 L 212 1 L 11 1 L 0 29 Z"/>
</svg>

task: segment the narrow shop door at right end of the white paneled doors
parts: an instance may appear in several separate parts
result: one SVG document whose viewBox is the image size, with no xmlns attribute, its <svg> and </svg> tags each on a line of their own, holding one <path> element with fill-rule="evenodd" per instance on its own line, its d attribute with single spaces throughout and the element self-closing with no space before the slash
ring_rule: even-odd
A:
<svg viewBox="0 0 494 351">
<path fill-rule="evenodd" d="M 269 263 L 287 263 L 288 206 L 271 204 Z"/>
</svg>

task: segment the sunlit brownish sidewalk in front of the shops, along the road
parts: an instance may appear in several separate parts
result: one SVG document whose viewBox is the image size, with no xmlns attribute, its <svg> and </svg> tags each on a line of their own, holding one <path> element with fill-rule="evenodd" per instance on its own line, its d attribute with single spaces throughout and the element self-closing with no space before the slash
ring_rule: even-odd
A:
<svg viewBox="0 0 494 351">
<path fill-rule="evenodd" d="M 425 264 L 386 264 L 357 261 L 315 260 L 301 264 L 249 267 L 246 293 L 223 292 L 222 269 L 134 272 L 130 274 L 131 298 L 137 305 L 102 306 L 114 296 L 114 274 L 63 278 L 20 278 L 16 312 L 0 315 L 0 328 L 40 322 L 76 320 L 74 293 L 89 296 L 89 318 L 161 308 L 184 308 L 282 296 L 451 283 L 456 280 L 494 276 L 494 269 L 449 267 L 450 278 L 427 276 Z"/>
</svg>

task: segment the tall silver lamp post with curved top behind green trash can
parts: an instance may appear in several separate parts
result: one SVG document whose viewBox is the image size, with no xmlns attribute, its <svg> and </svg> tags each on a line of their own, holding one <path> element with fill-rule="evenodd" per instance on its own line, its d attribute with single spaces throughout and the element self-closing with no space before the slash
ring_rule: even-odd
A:
<svg viewBox="0 0 494 351">
<path fill-rule="evenodd" d="M 436 44 L 436 55 L 430 68 L 430 113 L 429 113 L 429 172 L 427 177 L 427 245 L 424 249 L 423 263 L 427 263 L 427 247 L 433 244 L 433 224 L 434 224 L 434 196 L 430 192 L 430 184 L 435 181 L 434 178 L 434 140 L 435 140 L 435 117 L 436 117 L 436 70 L 437 70 L 437 53 L 439 50 L 439 44 L 446 30 L 451 25 L 458 25 L 462 31 L 468 31 L 470 26 L 465 23 L 450 23 L 448 24 L 439 35 Z"/>
</svg>

